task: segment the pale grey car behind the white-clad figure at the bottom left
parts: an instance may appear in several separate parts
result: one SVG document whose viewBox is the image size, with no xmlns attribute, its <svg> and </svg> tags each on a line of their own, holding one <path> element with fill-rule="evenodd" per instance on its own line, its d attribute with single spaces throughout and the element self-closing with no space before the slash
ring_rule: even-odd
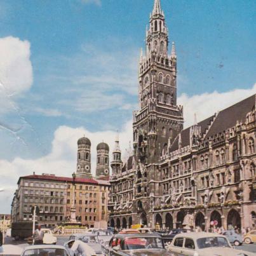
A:
<svg viewBox="0 0 256 256">
<path fill-rule="evenodd" d="M 74 243 L 75 241 L 81 241 L 83 243 Z M 64 244 L 65 248 L 70 248 L 71 243 L 74 243 L 74 246 L 72 246 L 72 250 L 74 250 L 74 253 L 76 255 L 77 252 L 79 252 L 79 250 L 86 250 L 86 248 L 91 248 L 93 250 L 92 255 L 97 255 L 100 256 L 102 255 L 102 244 L 100 243 L 98 236 L 96 234 L 92 234 L 92 233 L 86 233 L 86 234 L 73 234 L 72 236 L 69 237 L 69 241 L 67 243 Z M 83 244 L 86 244 L 83 245 Z M 75 248 L 75 249 L 74 249 Z M 83 255 L 83 253 L 81 254 Z M 86 254 L 86 255 L 90 255 L 90 254 Z"/>
</svg>

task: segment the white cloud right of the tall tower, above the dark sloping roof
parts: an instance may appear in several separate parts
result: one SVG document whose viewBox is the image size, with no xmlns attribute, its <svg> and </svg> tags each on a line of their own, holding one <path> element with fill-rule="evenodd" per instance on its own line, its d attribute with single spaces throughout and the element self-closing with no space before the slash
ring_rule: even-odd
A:
<svg viewBox="0 0 256 256">
<path fill-rule="evenodd" d="M 256 93 L 256 84 L 249 89 L 234 89 L 223 93 L 213 91 L 212 93 L 203 93 L 200 95 L 193 95 L 191 97 L 182 93 L 177 101 L 178 104 L 183 105 L 184 126 L 187 127 L 193 125 L 194 113 L 196 113 L 197 120 L 201 121 L 213 116 L 215 112 L 236 104 L 236 102 L 239 102 L 246 97 L 250 97 L 254 93 Z"/>
</svg>

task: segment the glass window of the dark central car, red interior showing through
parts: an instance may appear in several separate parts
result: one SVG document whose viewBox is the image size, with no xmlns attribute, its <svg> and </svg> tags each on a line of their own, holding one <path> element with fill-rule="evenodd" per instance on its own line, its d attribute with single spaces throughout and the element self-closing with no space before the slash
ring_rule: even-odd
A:
<svg viewBox="0 0 256 256">
<path fill-rule="evenodd" d="M 126 238 L 124 250 L 141 250 L 141 249 L 163 249 L 161 238 Z"/>
</svg>

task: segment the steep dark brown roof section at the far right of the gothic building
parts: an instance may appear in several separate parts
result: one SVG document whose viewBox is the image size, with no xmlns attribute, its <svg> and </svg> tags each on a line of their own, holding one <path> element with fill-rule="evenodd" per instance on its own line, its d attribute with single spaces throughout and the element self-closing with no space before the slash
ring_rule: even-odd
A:
<svg viewBox="0 0 256 256">
<path fill-rule="evenodd" d="M 255 105 L 255 94 L 237 104 L 219 112 L 215 118 L 206 138 L 236 126 L 236 121 L 245 122 L 246 114 L 252 111 Z"/>
</svg>

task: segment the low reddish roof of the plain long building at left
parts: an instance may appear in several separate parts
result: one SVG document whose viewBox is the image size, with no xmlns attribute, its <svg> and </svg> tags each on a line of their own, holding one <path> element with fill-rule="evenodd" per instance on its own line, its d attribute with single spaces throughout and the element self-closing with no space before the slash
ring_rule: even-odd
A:
<svg viewBox="0 0 256 256">
<path fill-rule="evenodd" d="M 58 177 L 53 175 L 28 175 L 24 177 L 20 177 L 20 179 L 34 179 L 34 180 L 55 180 L 60 182 L 72 182 L 72 178 L 69 177 Z M 20 183 L 20 179 L 18 179 L 18 184 Z M 88 183 L 88 184 L 98 184 L 97 180 L 95 179 L 83 179 L 83 178 L 76 178 L 76 182 L 79 183 Z"/>
</svg>

